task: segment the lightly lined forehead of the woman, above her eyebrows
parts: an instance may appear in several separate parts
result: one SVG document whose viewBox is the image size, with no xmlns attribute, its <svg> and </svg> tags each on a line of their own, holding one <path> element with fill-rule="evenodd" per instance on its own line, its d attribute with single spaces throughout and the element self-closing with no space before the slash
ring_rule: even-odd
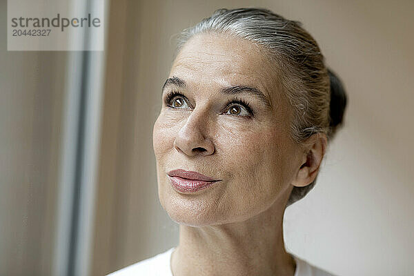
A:
<svg viewBox="0 0 414 276">
<path fill-rule="evenodd" d="M 228 34 L 196 34 L 181 48 L 172 75 L 195 86 L 253 86 L 270 100 L 275 97 L 275 74 L 266 53 Z"/>
</svg>

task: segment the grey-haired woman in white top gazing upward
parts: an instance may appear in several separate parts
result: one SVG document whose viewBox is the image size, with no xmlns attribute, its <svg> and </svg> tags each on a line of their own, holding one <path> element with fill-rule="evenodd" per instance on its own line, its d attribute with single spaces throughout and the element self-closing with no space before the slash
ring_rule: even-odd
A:
<svg viewBox="0 0 414 276">
<path fill-rule="evenodd" d="M 111 275 L 330 275 L 287 253 L 282 230 L 346 105 L 311 35 L 269 10 L 217 10 L 182 32 L 162 101 L 159 199 L 179 246 Z"/>
</svg>

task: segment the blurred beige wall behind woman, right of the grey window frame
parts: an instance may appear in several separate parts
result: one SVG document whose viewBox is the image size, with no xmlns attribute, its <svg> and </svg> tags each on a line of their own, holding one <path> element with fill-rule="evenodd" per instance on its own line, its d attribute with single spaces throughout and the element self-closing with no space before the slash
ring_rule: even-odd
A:
<svg viewBox="0 0 414 276">
<path fill-rule="evenodd" d="M 145 259 L 178 241 L 177 225 L 159 205 L 151 137 L 175 47 L 171 37 L 217 8 L 260 6 L 304 23 L 328 65 L 344 81 L 349 98 L 345 126 L 330 146 L 317 186 L 286 210 L 286 247 L 338 275 L 410 275 L 414 270 L 414 187 L 409 174 L 414 163 L 413 1 L 122 3 L 126 20 L 112 21 L 126 32 L 117 42 L 122 46 L 117 50 L 124 53 L 119 61 L 122 81 L 107 95 L 117 93 L 117 88 L 124 91 L 124 103 L 117 104 L 120 118 L 128 121 L 118 119 L 117 141 L 108 142 L 110 152 L 118 148 L 115 156 L 122 164 L 114 172 L 116 188 L 101 185 L 106 190 L 101 190 L 98 201 L 101 217 L 108 208 L 117 217 L 116 224 L 97 221 L 98 228 L 112 231 L 106 259 L 99 250 L 94 255 L 96 264 L 106 264 L 103 271 Z M 103 131 L 109 131 L 103 124 Z M 112 155 L 103 146 L 103 159 L 110 160 Z M 103 200 L 110 191 L 117 197 L 112 209 Z M 105 242 L 104 237 L 95 242 Z"/>
</svg>

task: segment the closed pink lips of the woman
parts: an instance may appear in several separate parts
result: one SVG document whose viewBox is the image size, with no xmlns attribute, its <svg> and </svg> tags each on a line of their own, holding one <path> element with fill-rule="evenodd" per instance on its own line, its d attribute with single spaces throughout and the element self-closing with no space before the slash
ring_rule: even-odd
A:
<svg viewBox="0 0 414 276">
<path fill-rule="evenodd" d="M 170 178 L 171 185 L 181 193 L 194 193 L 219 181 L 198 172 L 181 169 L 171 170 L 167 175 Z"/>
</svg>

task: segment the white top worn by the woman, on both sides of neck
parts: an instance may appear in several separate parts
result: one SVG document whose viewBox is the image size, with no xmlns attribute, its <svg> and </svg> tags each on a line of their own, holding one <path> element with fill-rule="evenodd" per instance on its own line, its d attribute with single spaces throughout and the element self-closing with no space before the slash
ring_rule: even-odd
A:
<svg viewBox="0 0 414 276">
<path fill-rule="evenodd" d="M 172 276 L 170 259 L 174 249 L 175 247 L 170 248 L 164 253 L 121 268 L 107 276 Z M 331 273 L 316 268 L 291 253 L 290 255 L 296 262 L 295 276 L 333 276 Z"/>
</svg>

